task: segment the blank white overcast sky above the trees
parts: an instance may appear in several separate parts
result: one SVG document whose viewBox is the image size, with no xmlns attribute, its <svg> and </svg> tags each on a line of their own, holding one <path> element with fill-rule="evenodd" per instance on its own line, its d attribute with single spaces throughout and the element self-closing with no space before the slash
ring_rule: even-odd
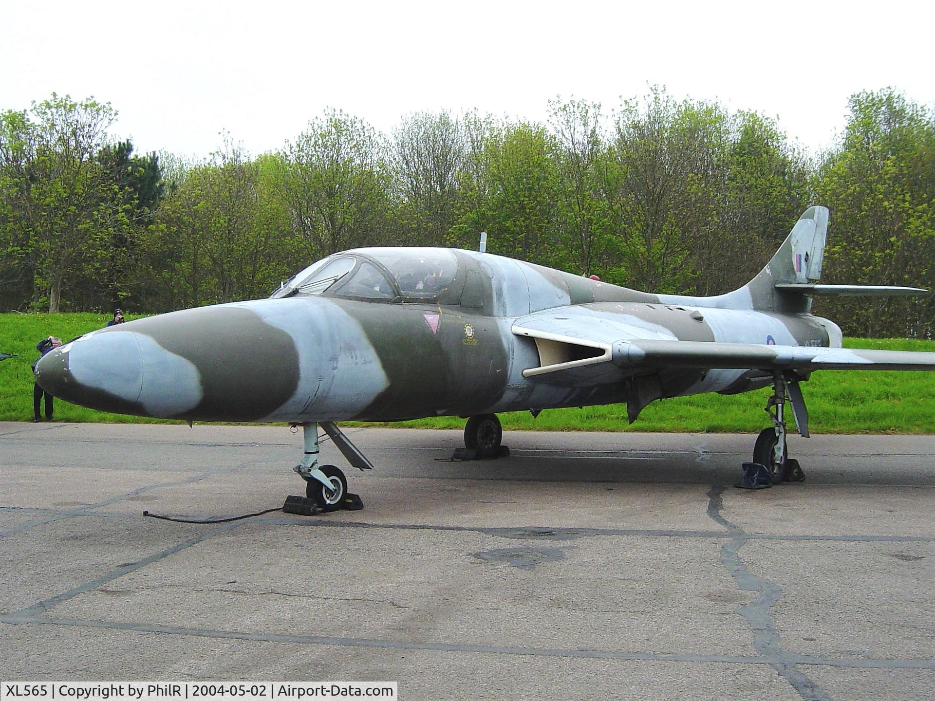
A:
<svg viewBox="0 0 935 701">
<path fill-rule="evenodd" d="M 326 107 L 389 133 L 404 114 L 477 108 L 544 122 L 556 96 L 664 85 L 778 117 L 821 149 L 857 91 L 935 104 L 935 3 L 0 0 L 0 110 L 52 92 L 120 112 L 137 152 L 253 154 Z"/>
</svg>

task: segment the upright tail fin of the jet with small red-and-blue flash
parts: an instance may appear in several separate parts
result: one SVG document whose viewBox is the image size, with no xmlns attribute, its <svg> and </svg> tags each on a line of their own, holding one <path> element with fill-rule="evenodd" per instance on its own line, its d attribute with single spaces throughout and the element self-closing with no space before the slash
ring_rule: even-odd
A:
<svg viewBox="0 0 935 701">
<path fill-rule="evenodd" d="M 810 300 L 801 294 L 784 294 L 777 285 L 804 285 L 821 278 L 827 237 L 827 207 L 809 207 L 786 236 L 770 263 L 738 292 L 750 294 L 754 309 L 804 311 Z"/>
</svg>

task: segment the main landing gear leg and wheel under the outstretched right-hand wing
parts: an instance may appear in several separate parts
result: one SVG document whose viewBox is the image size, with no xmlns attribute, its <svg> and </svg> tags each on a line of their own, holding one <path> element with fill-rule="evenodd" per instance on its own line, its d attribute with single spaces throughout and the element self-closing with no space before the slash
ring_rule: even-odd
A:
<svg viewBox="0 0 935 701">
<path fill-rule="evenodd" d="M 785 402 L 792 406 L 792 413 L 798 426 L 798 433 L 802 437 L 809 437 L 809 412 L 805 408 L 805 399 L 798 386 L 798 376 L 793 373 L 776 373 L 773 376 L 772 394 L 766 404 L 766 411 L 770 414 L 772 428 L 765 428 L 756 436 L 754 446 L 754 463 L 762 465 L 770 475 L 769 482 L 778 484 L 782 481 L 800 482 L 805 479 L 805 472 L 798 465 L 798 460 L 789 458 L 785 444 Z M 751 481 L 755 476 L 750 476 Z M 746 484 L 748 476 L 744 475 L 742 486 Z M 759 483 L 759 486 L 769 484 Z"/>
</svg>

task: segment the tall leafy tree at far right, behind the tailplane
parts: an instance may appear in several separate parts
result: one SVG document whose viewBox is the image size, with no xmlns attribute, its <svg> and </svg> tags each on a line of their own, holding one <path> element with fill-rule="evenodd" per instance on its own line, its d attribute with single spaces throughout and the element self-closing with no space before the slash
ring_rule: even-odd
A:
<svg viewBox="0 0 935 701">
<path fill-rule="evenodd" d="M 830 207 L 826 274 L 872 285 L 935 286 L 935 121 L 892 89 L 857 93 L 840 149 L 816 179 Z M 935 299 L 827 303 L 845 333 L 930 337 Z"/>
</svg>

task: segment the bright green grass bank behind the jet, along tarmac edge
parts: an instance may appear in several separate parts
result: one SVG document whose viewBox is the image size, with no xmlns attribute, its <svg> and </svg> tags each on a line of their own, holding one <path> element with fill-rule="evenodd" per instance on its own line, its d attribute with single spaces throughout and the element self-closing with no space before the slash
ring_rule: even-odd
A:
<svg viewBox="0 0 935 701">
<path fill-rule="evenodd" d="M 33 418 L 33 374 L 38 357 L 36 342 L 46 336 L 63 341 L 101 328 L 103 314 L 0 314 L 0 350 L 17 353 L 0 363 L 0 421 Z M 846 338 L 850 348 L 935 351 L 935 341 Z M 811 416 L 811 428 L 819 434 L 935 434 L 935 373 L 866 372 L 828 370 L 816 372 L 802 386 Z M 675 431 L 757 432 L 769 424 L 763 408 L 768 390 L 721 396 L 698 394 L 654 402 L 643 409 L 632 426 L 626 422 L 626 405 L 546 409 L 533 419 L 528 412 L 500 415 L 506 429 L 528 431 Z M 62 422 L 156 423 L 158 419 L 108 414 L 55 403 L 55 419 Z M 178 422 L 170 422 L 178 423 Z M 464 420 L 439 417 L 392 425 L 420 428 L 461 428 Z"/>
</svg>

